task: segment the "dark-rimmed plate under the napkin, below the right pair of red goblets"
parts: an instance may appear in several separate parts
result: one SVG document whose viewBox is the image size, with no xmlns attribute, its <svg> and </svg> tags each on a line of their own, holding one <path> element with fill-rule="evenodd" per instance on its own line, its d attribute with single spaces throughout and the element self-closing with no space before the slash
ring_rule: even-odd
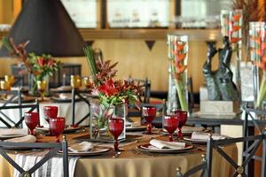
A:
<svg viewBox="0 0 266 177">
<path fill-rule="evenodd" d="M 157 152 L 157 153 L 182 153 L 188 150 L 192 150 L 193 147 L 194 146 L 192 145 L 185 145 L 185 147 L 182 149 L 159 149 L 154 147 L 150 143 L 137 146 L 139 150 L 144 150 L 148 152 Z"/>
</svg>

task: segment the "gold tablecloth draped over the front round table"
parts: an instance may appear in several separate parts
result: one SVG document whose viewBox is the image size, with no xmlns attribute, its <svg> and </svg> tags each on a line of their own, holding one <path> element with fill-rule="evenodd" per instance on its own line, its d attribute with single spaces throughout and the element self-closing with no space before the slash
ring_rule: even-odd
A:
<svg viewBox="0 0 266 177">
<path fill-rule="evenodd" d="M 86 135 L 82 133 L 81 135 Z M 70 135 L 71 138 L 78 135 Z M 41 137 L 40 141 L 51 141 L 52 137 Z M 69 139 L 71 139 L 69 138 Z M 166 139 L 167 137 L 159 137 Z M 98 157 L 79 158 L 76 163 L 75 177 L 175 177 L 176 167 L 180 166 L 183 172 L 199 165 L 201 155 L 205 151 L 194 149 L 180 154 L 143 153 L 135 150 L 137 145 L 149 142 L 150 137 L 145 136 L 138 142 L 129 142 L 123 148 L 119 158 L 113 158 L 113 150 L 106 155 Z M 235 159 L 238 157 L 235 145 L 224 147 L 224 150 Z M 23 152 L 20 152 L 23 153 Z M 14 155 L 12 154 L 12 158 Z M 228 177 L 233 173 L 230 165 L 214 151 L 213 175 L 215 177 Z M 0 158 L 0 176 L 12 176 L 13 168 L 4 158 Z M 199 176 L 199 175 L 195 175 Z"/>
</svg>

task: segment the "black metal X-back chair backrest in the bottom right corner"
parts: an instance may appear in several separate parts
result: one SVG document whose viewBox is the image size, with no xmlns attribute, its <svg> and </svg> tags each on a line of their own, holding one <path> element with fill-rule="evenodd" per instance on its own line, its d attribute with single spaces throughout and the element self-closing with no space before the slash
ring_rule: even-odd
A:
<svg viewBox="0 0 266 177">
<path fill-rule="evenodd" d="M 226 146 L 229 144 L 234 144 L 236 142 L 253 142 L 248 147 L 246 147 L 246 151 L 243 153 L 245 159 L 243 160 L 241 165 L 238 165 L 237 162 L 233 158 L 231 158 L 222 148 L 222 146 Z M 257 157 L 255 153 L 259 149 L 260 145 L 263 145 L 262 157 Z M 263 132 L 261 135 L 252 135 L 252 136 L 244 136 L 239 138 L 230 138 L 224 140 L 213 140 L 210 136 L 207 142 L 207 176 L 210 177 L 212 173 L 212 159 L 213 159 L 213 150 L 216 150 L 218 154 L 220 154 L 235 170 L 236 172 L 233 176 L 238 176 L 239 174 L 242 176 L 248 176 L 247 169 L 248 164 L 251 159 L 262 161 L 262 177 L 266 176 L 266 134 Z"/>
</svg>

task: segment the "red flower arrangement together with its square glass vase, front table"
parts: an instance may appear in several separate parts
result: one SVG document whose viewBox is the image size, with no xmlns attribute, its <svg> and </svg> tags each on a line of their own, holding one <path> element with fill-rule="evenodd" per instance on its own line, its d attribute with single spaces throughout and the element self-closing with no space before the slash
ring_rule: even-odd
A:
<svg viewBox="0 0 266 177">
<path fill-rule="evenodd" d="M 98 101 L 90 103 L 90 139 L 97 141 L 112 141 L 113 136 L 108 131 L 108 120 L 124 119 L 126 122 L 128 104 L 134 104 L 140 96 L 141 87 L 134 81 L 115 80 L 117 63 L 110 60 L 94 58 L 90 46 L 84 48 L 90 66 L 93 87 L 98 92 Z M 125 124 L 119 140 L 125 139 Z"/>
</svg>

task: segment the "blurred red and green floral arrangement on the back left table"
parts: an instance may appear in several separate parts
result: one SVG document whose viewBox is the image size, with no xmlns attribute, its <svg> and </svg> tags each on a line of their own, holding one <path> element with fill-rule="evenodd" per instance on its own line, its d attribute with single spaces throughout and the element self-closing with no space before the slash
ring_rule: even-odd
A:
<svg viewBox="0 0 266 177">
<path fill-rule="evenodd" d="M 29 41 L 16 45 L 12 38 L 3 38 L 3 44 L 5 48 L 11 53 L 12 56 L 18 58 L 20 63 L 25 65 L 26 70 L 22 70 L 20 74 L 30 74 L 31 81 L 29 82 L 31 83 L 29 91 L 32 95 L 36 95 L 36 82 L 48 80 L 47 83 L 49 83 L 49 76 L 59 69 L 59 61 L 55 58 L 52 58 L 51 55 L 43 54 L 38 56 L 34 52 L 27 53 L 26 47 L 28 43 Z M 46 92 L 47 91 L 48 90 L 46 90 Z"/>
</svg>

